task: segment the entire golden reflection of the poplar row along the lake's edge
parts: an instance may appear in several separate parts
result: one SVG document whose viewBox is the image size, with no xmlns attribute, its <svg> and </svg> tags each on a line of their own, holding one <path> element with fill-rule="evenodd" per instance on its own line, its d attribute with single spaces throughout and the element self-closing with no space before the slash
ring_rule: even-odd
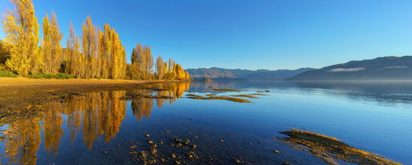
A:
<svg viewBox="0 0 412 165">
<path fill-rule="evenodd" d="M 126 95 L 133 93 L 141 96 L 130 99 L 133 115 L 141 120 L 150 118 L 155 100 L 159 108 L 164 102 L 173 104 L 188 90 L 189 83 L 149 86 L 159 90 L 102 91 L 82 96 L 64 96 L 62 99 L 65 102 L 49 102 L 27 113 L 39 115 L 15 117 L 10 120 L 12 122 L 5 123 L 7 128 L 1 132 L 0 140 L 4 148 L 0 148 L 0 151 L 4 154 L 0 155 L 0 164 L 36 164 L 41 138 L 47 155 L 53 157 L 57 156 L 61 137 L 64 135 L 70 135 L 72 145 L 76 137 L 82 135 L 83 143 L 88 149 L 101 137 L 104 137 L 105 142 L 110 142 L 119 132 L 126 116 Z"/>
</svg>

